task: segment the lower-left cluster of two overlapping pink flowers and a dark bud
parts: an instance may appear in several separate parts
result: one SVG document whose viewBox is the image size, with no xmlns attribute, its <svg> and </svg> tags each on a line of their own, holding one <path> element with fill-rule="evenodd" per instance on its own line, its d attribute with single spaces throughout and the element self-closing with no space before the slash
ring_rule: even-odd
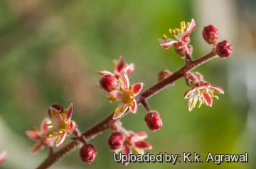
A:
<svg viewBox="0 0 256 169">
<path fill-rule="evenodd" d="M 59 147 L 63 145 L 66 136 L 72 134 L 77 128 L 77 124 L 71 120 L 74 112 L 74 105 L 71 103 L 67 109 L 62 105 L 52 105 L 48 110 L 50 119 L 46 117 L 41 122 L 40 130 L 26 131 L 26 135 L 36 141 L 31 148 L 31 153 L 36 154 L 44 147 L 52 148 L 53 144 Z"/>
</svg>

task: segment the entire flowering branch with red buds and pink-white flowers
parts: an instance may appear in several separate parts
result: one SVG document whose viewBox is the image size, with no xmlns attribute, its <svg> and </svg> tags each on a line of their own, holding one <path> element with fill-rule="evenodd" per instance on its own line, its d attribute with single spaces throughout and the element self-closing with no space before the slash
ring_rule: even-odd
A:
<svg viewBox="0 0 256 169">
<path fill-rule="evenodd" d="M 191 90 L 184 94 L 184 98 L 189 98 L 188 110 L 191 111 L 198 100 L 198 107 L 200 107 L 202 103 L 212 106 L 213 100 L 218 100 L 218 97 L 213 95 L 213 93 L 224 93 L 223 89 L 204 81 L 202 74 L 198 72 L 191 73 L 191 71 L 215 57 L 229 57 L 233 47 L 226 40 L 218 42 L 218 30 L 212 25 L 208 25 L 203 29 L 202 34 L 206 42 L 213 45 L 213 49 L 205 56 L 193 60 L 193 47 L 189 45 L 189 36 L 196 27 L 196 23 L 192 19 L 191 23 L 185 24 L 185 22 L 181 22 L 180 25 L 180 29 L 169 30 L 176 40 L 171 40 L 166 35 L 163 35 L 163 38 L 159 40 L 159 42 L 161 47 L 165 49 L 174 46 L 176 53 L 181 58 L 185 59 L 185 65 L 174 73 L 171 73 L 168 70 L 161 71 L 159 73 L 159 82 L 154 86 L 151 86 L 151 88 L 148 88 L 146 91 L 139 94 L 142 90 L 143 83 L 129 85 L 129 78 L 127 75 L 134 71 L 134 64 L 125 64 L 123 57 L 120 57 L 119 61 L 113 62 L 114 73 L 110 71 L 98 72 L 101 79 L 97 86 L 108 92 L 106 96 L 110 100 L 110 103 L 114 101 L 119 101 L 120 103 L 114 112 L 86 132 L 80 134 L 77 129 L 77 124 L 71 120 L 74 110 L 73 103 L 70 104 L 67 110 L 60 105 L 53 105 L 50 107 L 49 115 L 53 122 L 48 124 L 43 123 L 45 124 L 45 127 L 41 130 L 43 134 L 40 136 L 38 135 L 38 132 L 36 132 L 37 137 L 33 139 L 36 139 L 36 141 L 38 141 L 36 145 L 40 146 L 40 148 L 36 149 L 36 152 L 40 151 L 44 146 L 48 146 L 48 148 L 52 150 L 53 141 L 56 142 L 56 146 L 61 146 L 65 136 L 68 136 L 69 134 L 74 134 L 75 138 L 60 150 L 51 152 L 48 158 L 38 166 L 38 169 L 50 167 L 50 165 L 53 165 L 53 163 L 59 161 L 61 158 L 68 155 L 68 153 L 81 146 L 81 160 L 87 163 L 92 163 L 97 152 L 95 151 L 94 146 L 88 144 L 88 142 L 106 129 L 112 129 L 112 134 L 108 143 L 110 149 L 113 151 L 122 151 L 123 154 L 127 154 L 132 153 L 132 148 L 134 148 L 137 153 L 144 153 L 144 149 L 151 148 L 149 143 L 142 141 L 142 139 L 147 137 L 147 134 L 145 132 L 134 133 L 127 131 L 122 127 L 119 120 L 121 120 L 124 115 L 127 115 L 128 112 L 137 112 L 137 105 L 142 104 L 146 109 L 144 120 L 149 129 L 153 132 L 161 129 L 162 121 L 159 112 L 151 110 L 146 100 L 159 91 L 162 91 L 164 88 L 174 86 L 174 82 L 179 78 L 184 77 L 188 86 L 192 87 Z M 53 127 L 49 128 L 49 126 Z M 55 140 L 52 139 L 53 137 L 55 137 Z M 33 151 L 35 151 L 35 149 L 33 149 Z M 124 164 L 127 165 L 128 162 L 129 161 L 125 161 Z"/>
</svg>

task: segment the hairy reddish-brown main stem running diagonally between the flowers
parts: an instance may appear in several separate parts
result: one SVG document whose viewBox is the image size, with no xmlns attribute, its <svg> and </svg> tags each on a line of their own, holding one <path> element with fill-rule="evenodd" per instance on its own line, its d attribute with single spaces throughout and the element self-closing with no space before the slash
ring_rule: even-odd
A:
<svg viewBox="0 0 256 169">
<path fill-rule="evenodd" d="M 163 90 L 164 88 L 169 86 L 171 83 L 178 80 L 178 78 L 183 77 L 184 74 L 186 74 L 186 72 L 195 69 L 197 66 L 199 66 L 205 62 L 208 62 L 210 59 L 213 59 L 214 57 L 216 57 L 215 55 L 216 55 L 215 51 L 212 51 L 209 54 L 206 54 L 205 56 L 203 56 L 201 58 L 198 58 L 196 60 L 188 62 L 185 66 L 181 67 L 181 69 L 178 69 L 178 71 L 176 71 L 174 74 L 171 74 L 171 76 L 169 76 L 168 78 L 165 78 L 163 81 L 156 83 L 154 86 L 147 89 L 140 95 L 137 95 L 136 100 L 137 100 L 138 105 L 143 103 L 144 107 L 146 109 L 150 110 L 149 106 L 146 104 L 147 98 L 150 98 L 152 95 Z M 127 114 L 127 112 L 125 112 L 125 115 Z M 54 163 L 59 161 L 61 158 L 68 155 L 68 153 L 71 153 L 75 149 L 80 148 L 83 144 L 81 140 L 90 141 L 91 139 L 94 139 L 95 136 L 101 134 L 101 132 L 105 131 L 106 129 L 111 128 L 111 125 L 117 121 L 117 120 L 112 119 L 113 114 L 114 114 L 114 112 L 112 112 L 109 116 L 107 116 L 104 120 L 102 120 L 101 122 L 99 122 L 98 124 L 93 126 L 92 128 L 88 129 L 86 132 L 83 132 L 81 134 L 80 138 L 71 141 L 68 145 L 63 146 L 63 148 L 61 148 L 58 151 L 55 151 L 53 154 L 48 156 L 48 158 L 46 158 L 46 160 L 43 161 L 43 163 L 41 163 L 41 165 L 39 165 L 37 169 L 46 169 L 46 168 L 50 167 L 51 165 L 53 165 Z M 124 117 L 124 116 L 122 116 L 122 117 Z"/>
</svg>

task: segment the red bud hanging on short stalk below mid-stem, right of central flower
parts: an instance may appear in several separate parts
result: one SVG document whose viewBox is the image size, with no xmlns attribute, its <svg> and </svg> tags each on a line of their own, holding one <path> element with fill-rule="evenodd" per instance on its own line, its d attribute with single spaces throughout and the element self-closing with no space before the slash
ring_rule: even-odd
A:
<svg viewBox="0 0 256 169">
<path fill-rule="evenodd" d="M 146 125 L 152 132 L 156 132 L 163 126 L 163 122 L 161 120 L 159 112 L 156 111 L 151 111 L 147 113 L 144 120 L 146 122 Z"/>
</svg>

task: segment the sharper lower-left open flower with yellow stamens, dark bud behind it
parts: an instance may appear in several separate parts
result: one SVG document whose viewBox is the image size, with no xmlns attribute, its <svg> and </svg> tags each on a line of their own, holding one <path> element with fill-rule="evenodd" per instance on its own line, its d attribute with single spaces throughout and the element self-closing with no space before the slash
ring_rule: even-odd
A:
<svg viewBox="0 0 256 169">
<path fill-rule="evenodd" d="M 62 106 L 50 107 L 50 117 L 53 120 L 52 123 L 48 124 L 51 126 L 43 132 L 42 136 L 55 137 L 55 146 L 59 147 L 63 144 L 65 137 L 72 134 L 78 125 L 71 120 L 74 112 L 74 105 L 71 103 L 67 109 L 62 109 Z"/>
</svg>

